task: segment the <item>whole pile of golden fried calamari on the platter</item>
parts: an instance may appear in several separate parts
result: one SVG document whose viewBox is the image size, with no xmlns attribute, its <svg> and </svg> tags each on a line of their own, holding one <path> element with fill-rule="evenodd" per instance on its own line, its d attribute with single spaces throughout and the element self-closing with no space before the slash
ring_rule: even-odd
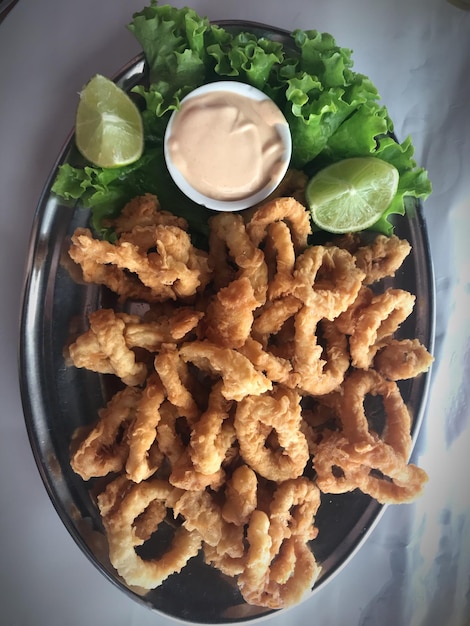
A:
<svg viewBox="0 0 470 626">
<path fill-rule="evenodd" d="M 113 222 L 114 243 L 73 234 L 83 280 L 118 297 L 89 314 L 68 357 L 120 381 L 76 432 L 71 464 L 84 480 L 107 477 L 97 502 L 128 585 L 153 589 L 202 551 L 245 602 L 277 609 L 321 571 L 322 493 L 400 503 L 422 491 L 397 381 L 432 357 L 396 338 L 415 296 L 384 286 L 407 241 L 310 245 L 294 197 L 214 214 L 209 226 L 208 251 L 197 249 L 186 221 L 144 195 Z M 374 396 L 380 427 L 365 408 Z M 144 558 L 160 524 L 173 527 L 168 549 Z"/>
</svg>

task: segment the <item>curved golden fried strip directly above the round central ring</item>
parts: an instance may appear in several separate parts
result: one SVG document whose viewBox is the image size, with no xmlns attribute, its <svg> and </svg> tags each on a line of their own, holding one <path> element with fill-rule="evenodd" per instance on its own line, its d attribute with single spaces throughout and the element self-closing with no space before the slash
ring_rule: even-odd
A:
<svg viewBox="0 0 470 626">
<path fill-rule="evenodd" d="M 272 389 L 272 382 L 240 352 L 221 348 L 210 341 L 185 343 L 179 351 L 181 358 L 199 369 L 219 374 L 223 380 L 222 395 L 227 400 L 240 401 L 248 395 L 259 395 Z"/>
</svg>

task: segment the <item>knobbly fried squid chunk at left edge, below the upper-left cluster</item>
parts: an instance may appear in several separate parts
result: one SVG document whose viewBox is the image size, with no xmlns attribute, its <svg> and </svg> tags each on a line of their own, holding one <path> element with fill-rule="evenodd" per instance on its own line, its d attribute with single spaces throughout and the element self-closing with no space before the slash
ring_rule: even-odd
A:
<svg viewBox="0 0 470 626">
<path fill-rule="evenodd" d="M 75 367 L 93 372 L 115 374 L 125 385 L 141 385 L 147 377 L 147 366 L 136 360 L 125 340 L 126 324 L 139 317 L 98 309 L 88 316 L 90 329 L 68 348 Z"/>
</svg>

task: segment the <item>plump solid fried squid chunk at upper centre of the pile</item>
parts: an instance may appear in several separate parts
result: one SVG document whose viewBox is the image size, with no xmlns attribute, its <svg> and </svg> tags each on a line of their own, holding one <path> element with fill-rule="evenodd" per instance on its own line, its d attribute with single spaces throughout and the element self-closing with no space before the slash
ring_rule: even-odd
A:
<svg viewBox="0 0 470 626">
<path fill-rule="evenodd" d="M 258 306 L 249 278 L 233 280 L 209 302 L 202 322 L 204 336 L 219 346 L 239 348 L 250 336 Z"/>
</svg>

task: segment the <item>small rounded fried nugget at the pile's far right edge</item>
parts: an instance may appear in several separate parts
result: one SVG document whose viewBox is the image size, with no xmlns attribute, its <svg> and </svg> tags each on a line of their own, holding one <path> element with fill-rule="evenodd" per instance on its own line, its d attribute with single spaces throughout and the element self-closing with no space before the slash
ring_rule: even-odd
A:
<svg viewBox="0 0 470 626">
<path fill-rule="evenodd" d="M 427 372 L 433 360 L 419 339 L 392 339 L 377 353 L 374 367 L 389 380 L 404 380 Z"/>
</svg>

